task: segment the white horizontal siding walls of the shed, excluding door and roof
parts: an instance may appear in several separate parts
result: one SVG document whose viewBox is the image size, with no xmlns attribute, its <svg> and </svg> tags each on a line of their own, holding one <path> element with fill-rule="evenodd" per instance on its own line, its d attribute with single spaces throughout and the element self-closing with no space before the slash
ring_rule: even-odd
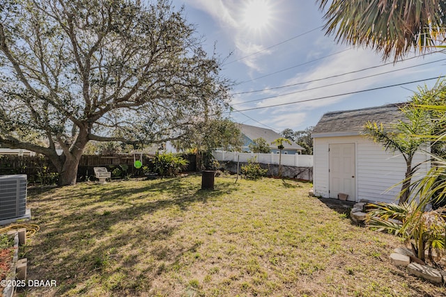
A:
<svg viewBox="0 0 446 297">
<path fill-rule="evenodd" d="M 328 198 L 328 145 L 330 143 L 355 143 L 356 200 L 367 199 L 381 202 L 395 202 L 406 172 L 406 162 L 398 152 L 386 152 L 382 145 L 362 136 L 341 136 L 314 138 L 314 193 Z M 428 157 L 415 154 L 413 165 L 422 163 Z M 424 163 L 417 172 L 420 178 L 430 164 Z M 392 188 L 393 187 L 393 188 Z"/>
</svg>

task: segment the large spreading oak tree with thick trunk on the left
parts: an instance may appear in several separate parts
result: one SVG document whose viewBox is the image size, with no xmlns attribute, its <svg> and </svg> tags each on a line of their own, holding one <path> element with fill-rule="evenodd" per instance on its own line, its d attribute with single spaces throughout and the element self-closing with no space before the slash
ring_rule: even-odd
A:
<svg viewBox="0 0 446 297">
<path fill-rule="evenodd" d="M 89 141 L 180 138 L 227 99 L 196 34 L 166 0 L 0 0 L 0 145 L 72 185 Z"/>
</svg>

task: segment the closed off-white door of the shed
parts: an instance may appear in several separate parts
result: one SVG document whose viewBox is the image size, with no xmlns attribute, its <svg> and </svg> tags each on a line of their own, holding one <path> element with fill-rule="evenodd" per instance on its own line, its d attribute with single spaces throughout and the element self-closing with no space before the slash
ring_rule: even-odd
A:
<svg viewBox="0 0 446 297">
<path fill-rule="evenodd" d="M 348 194 L 347 200 L 355 201 L 355 144 L 330 144 L 330 198 L 337 198 L 338 193 Z"/>
</svg>

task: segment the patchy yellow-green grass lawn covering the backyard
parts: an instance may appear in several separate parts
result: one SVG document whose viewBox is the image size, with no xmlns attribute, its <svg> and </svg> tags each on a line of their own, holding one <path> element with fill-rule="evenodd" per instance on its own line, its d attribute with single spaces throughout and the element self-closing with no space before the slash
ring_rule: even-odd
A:
<svg viewBox="0 0 446 297">
<path fill-rule="evenodd" d="M 401 241 L 310 198 L 310 184 L 201 177 L 29 191 L 40 231 L 26 296 L 445 296 L 390 264 Z"/>
</svg>

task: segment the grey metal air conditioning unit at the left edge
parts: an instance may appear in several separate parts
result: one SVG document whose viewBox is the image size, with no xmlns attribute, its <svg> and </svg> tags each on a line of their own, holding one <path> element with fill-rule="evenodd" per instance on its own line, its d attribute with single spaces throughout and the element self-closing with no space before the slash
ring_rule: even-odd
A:
<svg viewBox="0 0 446 297">
<path fill-rule="evenodd" d="M 26 175 L 0 175 L 0 220 L 26 214 Z"/>
</svg>

